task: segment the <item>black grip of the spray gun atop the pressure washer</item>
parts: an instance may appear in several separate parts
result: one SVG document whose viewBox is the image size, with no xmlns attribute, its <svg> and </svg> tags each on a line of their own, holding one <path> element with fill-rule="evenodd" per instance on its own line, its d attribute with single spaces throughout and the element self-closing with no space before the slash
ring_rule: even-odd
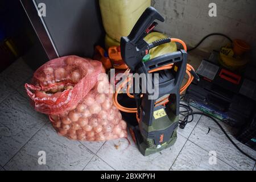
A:
<svg viewBox="0 0 256 182">
<path fill-rule="evenodd" d="M 137 42 L 141 41 L 147 34 L 149 34 L 157 25 L 154 20 L 159 20 L 164 22 L 164 18 L 162 15 L 154 9 L 154 7 L 148 7 L 141 17 L 138 19 L 137 23 L 131 30 L 130 35 L 128 38 L 131 42 L 136 44 Z"/>
</svg>

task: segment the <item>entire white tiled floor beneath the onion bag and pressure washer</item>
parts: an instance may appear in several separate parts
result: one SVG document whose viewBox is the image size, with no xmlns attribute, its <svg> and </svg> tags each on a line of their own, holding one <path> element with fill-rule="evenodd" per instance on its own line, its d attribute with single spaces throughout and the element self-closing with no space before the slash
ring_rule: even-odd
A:
<svg viewBox="0 0 256 182">
<path fill-rule="evenodd" d="M 190 57 L 191 62 L 199 59 Z M 22 59 L 0 74 L 0 171 L 256 170 L 253 160 L 240 154 L 215 123 L 199 115 L 184 130 L 178 129 L 174 146 L 146 157 L 126 139 L 75 142 L 59 137 L 46 115 L 30 106 L 23 85 L 31 76 L 32 70 Z M 256 157 L 254 150 L 236 143 Z M 46 151 L 46 165 L 38 164 L 39 151 Z M 209 151 L 216 151 L 215 165 L 209 164 Z"/>
</svg>

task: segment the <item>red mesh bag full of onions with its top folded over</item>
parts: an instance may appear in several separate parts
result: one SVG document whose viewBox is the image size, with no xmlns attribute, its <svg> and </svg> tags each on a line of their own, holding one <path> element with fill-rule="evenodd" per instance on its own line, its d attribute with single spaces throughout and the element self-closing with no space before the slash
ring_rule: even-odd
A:
<svg viewBox="0 0 256 182">
<path fill-rule="evenodd" d="M 105 92 L 110 85 L 102 70 L 100 61 L 60 57 L 42 65 L 25 88 L 35 110 L 48 114 L 61 136 L 88 141 L 126 138 L 126 122 L 113 105 L 113 94 Z"/>
</svg>

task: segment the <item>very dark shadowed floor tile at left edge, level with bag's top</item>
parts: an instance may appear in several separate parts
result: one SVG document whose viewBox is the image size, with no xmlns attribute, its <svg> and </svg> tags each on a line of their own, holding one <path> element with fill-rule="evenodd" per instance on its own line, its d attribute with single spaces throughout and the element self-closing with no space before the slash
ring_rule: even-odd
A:
<svg viewBox="0 0 256 182">
<path fill-rule="evenodd" d="M 24 81 L 33 75 L 34 71 L 23 61 L 22 58 L 16 60 L 0 77 L 13 88 L 18 88 Z"/>
</svg>

